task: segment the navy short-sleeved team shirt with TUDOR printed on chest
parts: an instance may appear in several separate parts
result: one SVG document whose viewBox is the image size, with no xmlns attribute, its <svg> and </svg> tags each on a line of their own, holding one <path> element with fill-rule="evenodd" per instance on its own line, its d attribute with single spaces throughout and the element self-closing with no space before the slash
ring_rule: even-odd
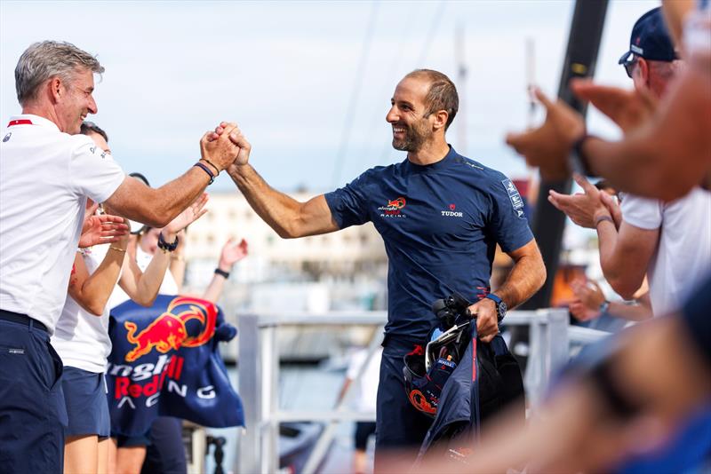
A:
<svg viewBox="0 0 711 474">
<path fill-rule="evenodd" d="M 511 180 L 451 146 L 439 162 L 378 166 L 325 198 L 341 229 L 371 221 L 382 235 L 386 334 L 412 341 L 435 324 L 436 299 L 487 294 L 497 243 L 509 252 L 533 238 Z"/>
</svg>

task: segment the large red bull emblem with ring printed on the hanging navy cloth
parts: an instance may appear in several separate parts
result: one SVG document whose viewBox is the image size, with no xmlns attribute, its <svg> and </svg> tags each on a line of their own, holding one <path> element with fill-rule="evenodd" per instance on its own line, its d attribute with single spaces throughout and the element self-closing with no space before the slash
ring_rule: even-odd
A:
<svg viewBox="0 0 711 474">
<path fill-rule="evenodd" d="M 199 334 L 188 334 L 187 323 L 189 320 L 198 320 L 202 325 Z M 178 350 L 180 347 L 196 347 L 207 343 L 215 334 L 217 320 L 217 306 L 214 304 L 191 298 L 177 296 L 163 314 L 158 316 L 137 335 L 138 327 L 132 321 L 125 321 L 124 328 L 128 331 L 126 339 L 135 347 L 126 353 L 126 362 L 133 362 L 141 356 L 156 349 L 157 352 L 166 353 Z"/>
</svg>

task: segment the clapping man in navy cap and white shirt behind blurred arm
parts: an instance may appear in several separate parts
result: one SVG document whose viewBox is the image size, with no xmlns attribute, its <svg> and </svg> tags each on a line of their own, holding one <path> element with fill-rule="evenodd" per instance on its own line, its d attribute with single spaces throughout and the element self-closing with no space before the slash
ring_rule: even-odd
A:
<svg viewBox="0 0 711 474">
<path fill-rule="evenodd" d="M 683 67 L 664 27 L 661 9 L 636 21 L 630 51 L 619 60 L 635 90 L 660 99 Z M 647 275 L 651 311 L 675 311 L 711 267 L 711 193 L 699 186 L 680 199 L 663 202 L 620 194 L 618 206 L 585 178 L 576 177 L 583 194 L 551 191 L 549 201 L 578 225 L 595 228 L 605 279 L 632 299 Z"/>
</svg>

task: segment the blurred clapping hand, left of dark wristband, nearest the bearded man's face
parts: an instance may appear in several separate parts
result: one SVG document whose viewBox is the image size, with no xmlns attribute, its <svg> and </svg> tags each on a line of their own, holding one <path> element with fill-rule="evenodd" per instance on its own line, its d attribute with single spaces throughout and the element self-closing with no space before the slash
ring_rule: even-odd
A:
<svg viewBox="0 0 711 474">
<path fill-rule="evenodd" d="M 570 175 L 568 154 L 585 133 L 585 121 L 563 100 L 552 102 L 539 89 L 533 94 L 546 107 L 546 121 L 537 129 L 507 134 L 506 142 L 523 154 L 530 166 L 539 167 L 544 179 L 560 181 Z"/>
</svg>

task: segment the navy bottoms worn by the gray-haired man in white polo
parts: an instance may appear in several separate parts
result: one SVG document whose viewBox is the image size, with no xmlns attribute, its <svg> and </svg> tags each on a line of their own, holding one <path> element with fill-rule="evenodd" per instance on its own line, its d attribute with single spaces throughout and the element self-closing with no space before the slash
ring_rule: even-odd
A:
<svg viewBox="0 0 711 474">
<path fill-rule="evenodd" d="M 61 375 L 49 333 L 27 316 L 0 310 L 0 471 L 62 471 Z"/>
</svg>

